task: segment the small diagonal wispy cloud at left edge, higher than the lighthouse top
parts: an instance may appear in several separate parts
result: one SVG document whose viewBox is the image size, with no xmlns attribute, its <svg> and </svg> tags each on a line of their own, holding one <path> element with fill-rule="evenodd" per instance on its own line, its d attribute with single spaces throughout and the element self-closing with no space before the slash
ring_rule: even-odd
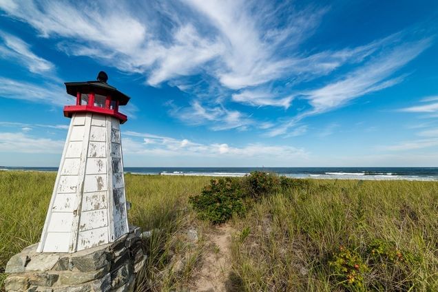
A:
<svg viewBox="0 0 438 292">
<path fill-rule="evenodd" d="M 32 73 L 45 74 L 54 69 L 54 65 L 39 56 L 36 56 L 31 50 L 30 45 L 25 43 L 17 36 L 12 36 L 0 31 L 0 57 L 3 59 L 14 59 L 23 64 Z"/>
</svg>

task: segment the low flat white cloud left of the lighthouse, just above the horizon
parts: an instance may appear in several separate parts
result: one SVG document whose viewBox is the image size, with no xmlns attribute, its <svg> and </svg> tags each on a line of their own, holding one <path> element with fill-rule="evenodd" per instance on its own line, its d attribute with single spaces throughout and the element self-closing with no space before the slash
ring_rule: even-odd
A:
<svg viewBox="0 0 438 292">
<path fill-rule="evenodd" d="M 63 151 L 64 140 L 36 138 L 24 133 L 0 132 L 0 152 L 59 154 Z"/>
</svg>

